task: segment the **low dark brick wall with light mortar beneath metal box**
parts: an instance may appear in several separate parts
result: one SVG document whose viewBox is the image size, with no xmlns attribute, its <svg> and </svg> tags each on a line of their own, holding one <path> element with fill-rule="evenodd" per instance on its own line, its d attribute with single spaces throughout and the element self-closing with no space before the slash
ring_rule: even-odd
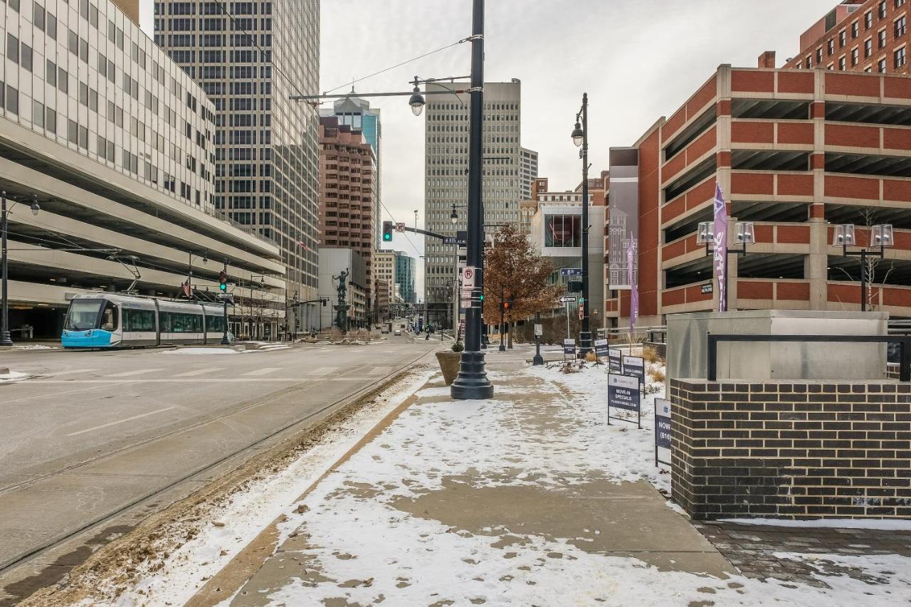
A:
<svg viewBox="0 0 911 607">
<path fill-rule="evenodd" d="M 911 518 L 911 385 L 675 379 L 670 400 L 693 519 Z"/>
</svg>

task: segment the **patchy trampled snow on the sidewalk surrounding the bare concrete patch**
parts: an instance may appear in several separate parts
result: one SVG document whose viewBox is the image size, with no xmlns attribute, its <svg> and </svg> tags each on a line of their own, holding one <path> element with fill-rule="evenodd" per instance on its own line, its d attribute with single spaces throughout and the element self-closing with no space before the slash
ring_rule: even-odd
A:
<svg viewBox="0 0 911 607">
<path fill-rule="evenodd" d="M 594 470 L 618 482 L 649 478 L 666 487 L 668 481 L 652 465 L 652 408 L 660 393 L 645 399 L 644 429 L 622 422 L 608 426 L 604 369 L 589 366 L 566 375 L 555 368 L 533 367 L 510 373 L 508 401 L 454 403 L 441 387 L 418 392 L 423 400 L 302 500 L 308 511 L 287 514 L 279 525 L 281 540 L 303 540 L 286 545 L 291 551 L 279 560 L 279 569 L 288 570 L 285 583 L 272 585 L 276 579 L 271 577 L 268 587 L 253 584 L 249 592 L 267 592 L 271 604 L 287 605 L 483 602 L 617 607 L 885 607 L 911 596 L 909 561 L 897 556 L 787 555 L 868 570 L 882 579 L 880 585 L 856 581 L 837 570 L 824 578 L 828 588 L 742 576 L 720 580 L 659 571 L 634 558 L 581 550 L 571 538 L 514 534 L 506 528 L 460 530 L 426 514 L 419 517 L 396 508 L 459 483 L 472 483 L 471 489 L 558 490 L 585 482 Z M 502 381 L 507 374 L 499 375 Z M 496 390 L 502 394 L 501 386 L 498 382 Z M 525 396 L 517 396 L 522 386 Z M 549 420 L 534 417 L 529 404 L 541 395 L 559 395 L 566 406 L 558 413 L 550 407 Z M 470 502 L 466 508 L 472 508 Z M 237 594 L 232 598 L 241 599 Z M 230 599 L 221 604 L 229 603 Z"/>
</svg>

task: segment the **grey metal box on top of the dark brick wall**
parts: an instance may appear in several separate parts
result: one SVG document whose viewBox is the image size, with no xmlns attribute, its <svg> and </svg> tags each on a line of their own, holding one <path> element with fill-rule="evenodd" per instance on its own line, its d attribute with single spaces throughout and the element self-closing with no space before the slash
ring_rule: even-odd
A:
<svg viewBox="0 0 911 607">
<path fill-rule="evenodd" d="M 747 310 L 670 314 L 668 379 L 708 377 L 708 335 L 885 335 L 885 312 Z M 717 379 L 886 378 L 886 345 L 860 342 L 719 342 Z"/>
</svg>

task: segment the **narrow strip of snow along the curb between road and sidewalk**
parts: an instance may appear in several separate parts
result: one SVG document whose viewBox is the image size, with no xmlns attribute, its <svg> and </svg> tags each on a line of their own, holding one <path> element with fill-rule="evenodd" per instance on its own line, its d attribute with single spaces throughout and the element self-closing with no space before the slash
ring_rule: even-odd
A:
<svg viewBox="0 0 911 607">
<path fill-rule="evenodd" d="M 207 349 L 207 348 L 196 348 Z M 396 406 L 423 386 L 430 372 L 416 373 L 367 406 L 343 425 L 323 435 L 319 442 L 277 474 L 252 481 L 231 495 L 226 506 L 211 508 L 205 515 L 211 524 L 193 540 L 173 551 L 164 567 L 149 571 L 146 562 L 138 569 L 135 586 L 116 600 L 93 596 L 81 605 L 179 605 L 188 601 L 205 580 L 220 571 L 272 521 L 290 509 L 313 482 L 383 420 Z M 112 588 L 102 588 L 113 592 Z"/>
</svg>

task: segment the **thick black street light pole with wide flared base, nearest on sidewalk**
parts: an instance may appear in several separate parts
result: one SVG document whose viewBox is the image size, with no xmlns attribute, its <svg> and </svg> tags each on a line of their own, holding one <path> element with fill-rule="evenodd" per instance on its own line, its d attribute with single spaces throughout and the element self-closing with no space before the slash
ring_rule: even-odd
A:
<svg viewBox="0 0 911 607">
<path fill-rule="evenodd" d="M 482 163 L 484 159 L 484 0 L 474 0 L 471 29 L 471 95 L 468 137 L 468 225 L 466 265 L 478 268 L 475 288 L 484 293 L 484 209 Z M 474 298 L 473 298 L 474 299 Z M 472 301 L 466 310 L 465 350 L 450 395 L 460 400 L 490 398 L 494 386 L 487 379 L 481 351 L 482 303 Z"/>
</svg>

